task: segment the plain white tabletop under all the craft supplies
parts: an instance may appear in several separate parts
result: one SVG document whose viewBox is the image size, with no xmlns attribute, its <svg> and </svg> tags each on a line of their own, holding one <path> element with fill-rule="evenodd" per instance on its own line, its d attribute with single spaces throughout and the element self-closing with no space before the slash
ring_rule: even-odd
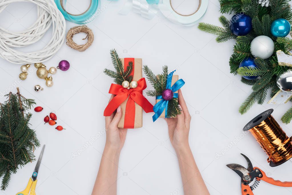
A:
<svg viewBox="0 0 292 195">
<path fill-rule="evenodd" d="M 84 11 L 89 1 L 68 1 L 72 13 Z M 85 2 L 85 3 L 84 3 Z M 183 4 L 181 4 L 183 2 Z M 292 135 L 292 124 L 284 125 L 280 118 L 291 107 L 287 105 L 255 105 L 245 115 L 238 113 L 241 102 L 251 93 L 251 87 L 240 81 L 240 76 L 230 74 L 229 57 L 234 41 L 216 43 L 215 36 L 199 31 L 197 25 L 184 27 L 169 22 L 161 13 L 152 20 L 130 12 L 119 15 L 124 1 L 101 1 L 107 6 L 93 23 L 88 24 L 94 32 L 94 43 L 85 52 L 69 48 L 65 43 L 58 53 L 44 64 L 57 66 L 60 60 L 71 64 L 67 72 L 53 75 L 54 86 L 48 88 L 45 81 L 37 78 L 35 71 L 18 86 L 27 98 L 33 98 L 37 106 L 44 107 L 33 113 L 32 127 L 41 144 L 46 144 L 38 176 L 36 194 L 91 194 L 105 144 L 105 134 L 93 142 L 79 156 L 72 156 L 84 149 L 104 128 L 103 110 L 110 95 L 107 93 L 112 79 L 102 73 L 104 68 L 113 69 L 109 50 L 116 48 L 121 58 L 142 58 L 156 74 L 163 65 L 177 68 L 177 74 L 186 82 L 182 91 L 192 115 L 190 146 L 206 185 L 213 195 L 241 194 L 239 176 L 227 168 L 228 163 L 247 166 L 240 153 L 246 154 L 253 166 L 258 166 L 270 177 L 292 181 L 291 161 L 272 168 L 267 155 L 251 134 L 243 136 L 242 128 L 257 114 L 266 109 L 275 109 L 273 116 L 288 136 Z M 173 1 L 181 13 L 190 13 L 197 3 Z M 191 5 L 191 6 L 190 6 Z M 219 2 L 209 1 L 202 22 L 220 25 Z M 36 7 L 30 3 L 14 3 L 0 14 L 1 27 L 21 31 L 36 20 Z M 230 18 L 230 16 L 228 16 Z M 67 31 L 76 26 L 67 21 Z M 34 46 L 21 48 L 33 51 L 45 46 L 51 31 Z M 81 40 L 83 34 L 74 37 Z M 81 43 L 81 41 L 79 41 Z M 33 66 L 32 66 L 33 67 Z M 0 92 L 5 93 L 18 79 L 20 65 L 0 59 Z M 35 92 L 34 85 L 44 88 Z M 15 93 L 16 88 L 12 91 Z M 148 89 L 150 85 L 148 83 Z M 147 97 L 152 104 L 154 98 Z M 268 101 L 267 97 L 267 101 Z M 1 102 L 4 98 L 0 99 Z M 55 112 L 58 125 L 66 130 L 57 131 L 43 124 L 44 116 Z M 169 142 L 166 122 L 163 119 L 152 123 L 152 113 L 143 114 L 143 128 L 128 130 L 126 143 L 121 152 L 118 173 L 118 194 L 183 194 L 180 171 L 175 152 Z M 237 138 L 237 137 L 243 138 Z M 237 142 L 231 148 L 230 142 Z M 35 152 L 39 156 L 41 148 Z M 225 152 L 219 159 L 216 153 Z M 11 195 L 22 191 L 32 174 L 36 162 L 19 169 L 12 175 L 6 191 Z M 277 187 L 265 182 L 255 194 L 292 194 L 292 188 Z"/>
</svg>

